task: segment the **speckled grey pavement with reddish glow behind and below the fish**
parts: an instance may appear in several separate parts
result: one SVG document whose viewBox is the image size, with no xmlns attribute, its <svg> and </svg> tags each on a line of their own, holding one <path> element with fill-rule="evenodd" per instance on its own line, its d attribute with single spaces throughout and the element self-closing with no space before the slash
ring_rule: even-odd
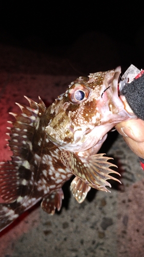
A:
<svg viewBox="0 0 144 257">
<path fill-rule="evenodd" d="M 111 45 L 113 42 L 109 41 L 110 49 Z M 100 70 L 98 62 L 94 70 L 94 60 L 90 68 L 85 65 L 87 60 L 82 53 L 76 62 L 72 53 L 77 49 L 78 43 L 67 53 L 67 59 L 0 45 L 1 161 L 10 158 L 5 133 L 9 126 L 7 120 L 12 120 L 8 113 L 19 111 L 15 102 L 28 104 L 23 97 L 26 95 L 34 101 L 40 96 L 50 104 L 80 76 L 79 72 L 86 76 L 86 71 L 108 70 L 120 65 L 120 59 L 114 58 L 115 48 L 109 51 L 109 58 L 114 62 L 101 63 Z M 111 193 L 92 189 L 79 205 L 70 192 L 68 181 L 60 212 L 50 216 L 37 204 L 0 233 L 1 257 L 144 256 L 144 172 L 138 157 L 116 132 L 109 133 L 101 152 L 114 158 L 122 184 L 112 181 Z"/>
</svg>

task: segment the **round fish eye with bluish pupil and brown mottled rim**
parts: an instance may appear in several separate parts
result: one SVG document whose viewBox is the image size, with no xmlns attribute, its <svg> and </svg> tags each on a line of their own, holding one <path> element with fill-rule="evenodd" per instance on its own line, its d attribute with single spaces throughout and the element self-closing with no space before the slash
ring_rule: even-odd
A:
<svg viewBox="0 0 144 257">
<path fill-rule="evenodd" d="M 88 99 L 90 88 L 84 84 L 75 83 L 68 90 L 68 99 L 71 103 L 81 103 Z"/>
</svg>

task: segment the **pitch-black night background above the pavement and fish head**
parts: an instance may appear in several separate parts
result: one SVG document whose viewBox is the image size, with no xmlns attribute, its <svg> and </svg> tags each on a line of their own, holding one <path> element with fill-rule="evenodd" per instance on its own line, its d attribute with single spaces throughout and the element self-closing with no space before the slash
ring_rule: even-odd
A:
<svg viewBox="0 0 144 257">
<path fill-rule="evenodd" d="M 79 62 L 79 70 L 86 57 L 84 72 L 131 63 L 144 67 L 139 3 L 3 1 L 0 16 L 0 43 L 66 57 L 72 65 Z"/>
</svg>

